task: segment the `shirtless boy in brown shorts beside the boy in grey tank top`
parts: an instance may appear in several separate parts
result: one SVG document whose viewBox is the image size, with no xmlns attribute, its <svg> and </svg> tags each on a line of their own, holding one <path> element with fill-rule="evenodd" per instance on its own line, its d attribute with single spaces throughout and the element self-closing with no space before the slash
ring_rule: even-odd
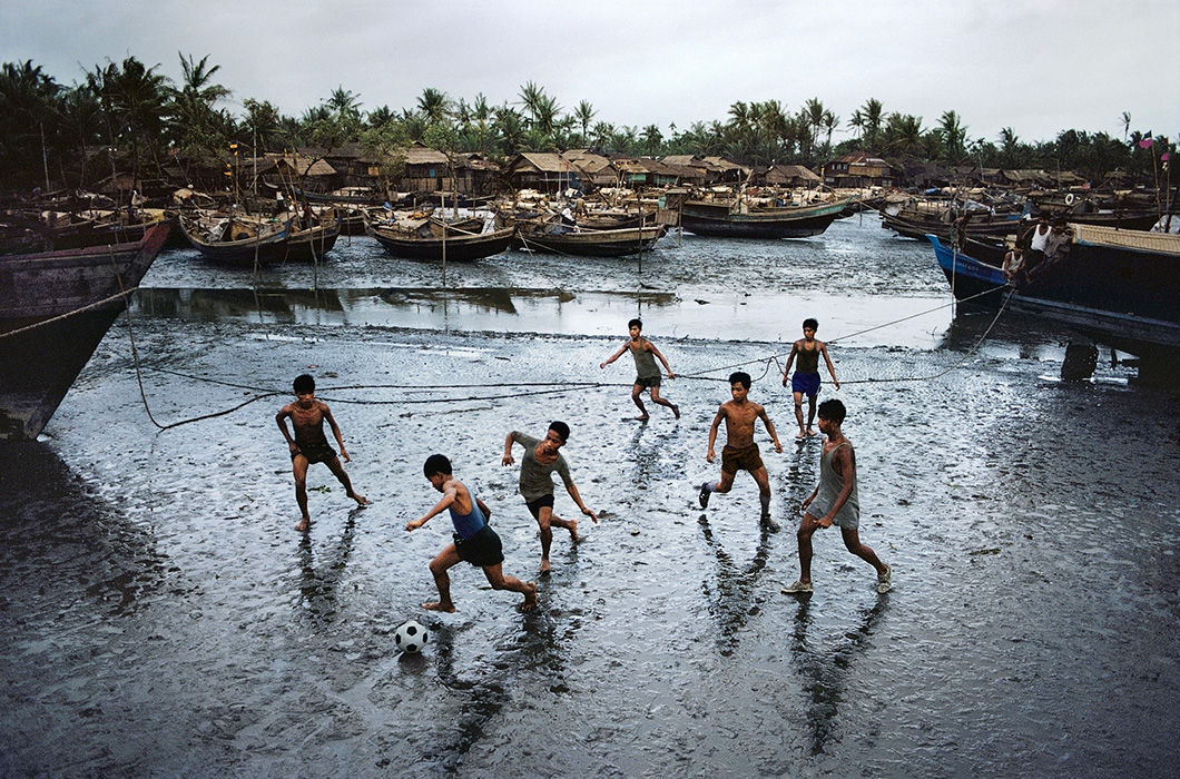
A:
<svg viewBox="0 0 1180 779">
<path fill-rule="evenodd" d="M 766 432 L 771 433 L 774 441 L 774 451 L 781 452 L 782 444 L 779 443 L 779 434 L 774 432 L 774 423 L 766 415 L 766 408 L 748 398 L 750 378 L 749 374 L 739 371 L 729 377 L 729 392 L 733 400 L 727 400 L 717 408 L 716 417 L 713 418 L 713 426 L 709 428 L 709 451 L 704 459 L 714 460 L 713 445 L 717 440 L 717 427 L 721 420 L 726 421 L 726 445 L 721 450 L 721 480 L 716 484 L 706 482 L 701 485 L 697 499 L 701 508 L 709 505 L 709 496 L 714 492 L 728 492 L 734 485 L 734 477 L 738 471 L 749 471 L 758 483 L 758 497 L 762 503 L 761 522 L 769 529 L 775 529 L 771 521 L 771 479 L 762 464 L 762 456 L 759 454 L 758 444 L 754 443 L 754 421 L 761 419 L 766 425 Z"/>
</svg>

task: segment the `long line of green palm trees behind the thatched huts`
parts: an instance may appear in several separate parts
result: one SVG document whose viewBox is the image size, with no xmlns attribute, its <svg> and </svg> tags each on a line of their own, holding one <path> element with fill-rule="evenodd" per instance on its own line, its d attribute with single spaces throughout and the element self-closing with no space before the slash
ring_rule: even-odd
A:
<svg viewBox="0 0 1180 779">
<path fill-rule="evenodd" d="M 563 107 L 529 81 L 517 100 L 493 105 L 478 93 L 470 102 L 426 87 L 415 104 L 362 110 L 361 96 L 343 85 L 301 116 L 269 100 L 245 98 L 242 112 L 224 107 L 232 92 L 216 81 L 209 55 L 179 54 L 175 81 L 136 57 L 106 61 L 80 83 L 63 85 L 32 60 L 0 68 L 0 189 L 34 185 L 85 186 L 116 172 L 136 181 L 159 176 L 168 159 L 225 159 L 231 144 L 262 152 L 339 149 L 359 144 L 385 159 L 384 175 L 399 176 L 398 150 L 413 142 L 504 161 L 523 151 L 591 148 L 599 153 L 663 157 L 722 156 L 747 165 L 818 168 L 848 151 L 891 163 L 933 163 L 1002 169 L 1073 170 L 1100 185 L 1114 171 L 1147 177 L 1158 155 L 1174 144 L 1132 130 L 1123 113 L 1122 138 L 1106 132 L 1062 130 L 1053 140 L 1025 142 L 1011 127 L 995 140 L 972 138 L 963 118 L 948 110 L 927 125 L 923 117 L 886 111 L 868 98 L 845 122 L 819 98 L 791 112 L 779 100 L 736 102 L 726 117 L 688 127 L 640 127 L 603 120 L 588 100 Z M 838 131 L 850 138 L 833 140 Z"/>
</svg>

